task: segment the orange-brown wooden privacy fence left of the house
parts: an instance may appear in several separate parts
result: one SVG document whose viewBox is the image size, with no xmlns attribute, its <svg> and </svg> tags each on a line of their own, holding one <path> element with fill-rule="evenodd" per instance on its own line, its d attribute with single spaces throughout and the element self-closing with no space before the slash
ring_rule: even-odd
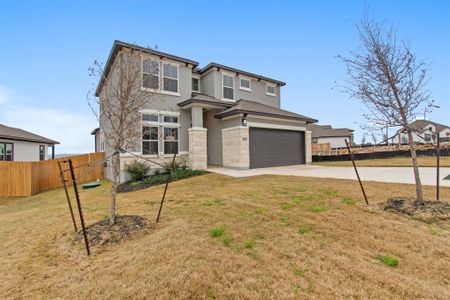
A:
<svg viewBox="0 0 450 300">
<path fill-rule="evenodd" d="M 103 179 L 104 152 L 63 157 L 37 162 L 0 161 L 0 196 L 31 196 L 43 191 L 62 187 L 59 177 L 58 160 L 72 159 L 78 182 Z M 63 168 L 68 168 L 63 164 Z M 81 166 L 77 168 L 77 166 Z M 69 178 L 68 174 L 66 179 Z M 70 182 L 69 182 L 70 184 Z"/>
</svg>

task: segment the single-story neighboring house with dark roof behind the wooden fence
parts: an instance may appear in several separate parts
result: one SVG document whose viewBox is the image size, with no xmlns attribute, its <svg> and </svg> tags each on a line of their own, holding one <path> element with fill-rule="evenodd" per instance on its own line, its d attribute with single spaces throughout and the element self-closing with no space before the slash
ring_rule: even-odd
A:
<svg viewBox="0 0 450 300">
<path fill-rule="evenodd" d="M 0 124 L 0 161 L 39 161 L 48 159 L 48 147 L 55 157 L 59 142 L 46 137 Z"/>
</svg>

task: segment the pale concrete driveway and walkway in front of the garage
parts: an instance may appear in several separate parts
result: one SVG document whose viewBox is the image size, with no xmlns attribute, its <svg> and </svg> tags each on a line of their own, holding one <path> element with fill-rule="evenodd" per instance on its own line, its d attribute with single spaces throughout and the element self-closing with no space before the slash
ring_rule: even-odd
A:
<svg viewBox="0 0 450 300">
<path fill-rule="evenodd" d="M 273 168 L 260 168 L 251 170 L 234 170 L 223 167 L 208 167 L 208 171 L 233 177 L 248 177 L 257 175 L 286 175 L 320 178 L 337 178 L 356 180 L 353 167 L 328 167 L 328 166 L 283 166 Z M 414 184 L 414 174 L 411 167 L 360 167 L 358 168 L 361 180 L 380 181 L 391 183 Z M 450 175 L 450 168 L 441 168 L 441 186 L 450 187 L 450 180 L 443 180 Z M 424 185 L 436 185 L 436 169 L 420 168 L 420 179 Z"/>
</svg>

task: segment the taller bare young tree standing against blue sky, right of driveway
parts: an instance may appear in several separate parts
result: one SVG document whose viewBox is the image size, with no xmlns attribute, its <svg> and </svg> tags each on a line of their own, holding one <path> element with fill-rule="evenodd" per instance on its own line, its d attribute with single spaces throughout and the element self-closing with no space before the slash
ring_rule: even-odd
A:
<svg viewBox="0 0 450 300">
<path fill-rule="evenodd" d="M 426 89 L 424 61 L 416 59 L 411 43 L 398 40 L 392 26 L 365 17 L 357 25 L 361 47 L 350 57 L 339 56 L 347 65 L 345 90 L 366 108 L 364 117 L 372 126 L 400 127 L 407 132 L 416 198 L 423 200 L 417 154 L 410 122 L 433 105 Z"/>
</svg>

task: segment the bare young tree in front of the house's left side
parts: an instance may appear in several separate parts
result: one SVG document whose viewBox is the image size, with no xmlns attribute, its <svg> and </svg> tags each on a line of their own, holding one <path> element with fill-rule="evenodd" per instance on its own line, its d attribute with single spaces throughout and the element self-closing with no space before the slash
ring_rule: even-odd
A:
<svg viewBox="0 0 450 300">
<path fill-rule="evenodd" d="M 120 153 L 124 149 L 135 149 L 136 141 L 140 140 L 141 135 L 139 109 L 145 103 L 151 102 L 155 93 L 141 91 L 143 79 L 138 50 L 121 49 L 113 59 L 108 74 L 105 73 L 104 65 L 95 61 L 89 68 L 89 75 L 98 77 L 103 84 L 98 97 L 92 97 L 92 93 L 89 93 L 88 103 L 103 129 L 106 148 L 113 153 L 109 223 L 114 225 Z"/>
</svg>

